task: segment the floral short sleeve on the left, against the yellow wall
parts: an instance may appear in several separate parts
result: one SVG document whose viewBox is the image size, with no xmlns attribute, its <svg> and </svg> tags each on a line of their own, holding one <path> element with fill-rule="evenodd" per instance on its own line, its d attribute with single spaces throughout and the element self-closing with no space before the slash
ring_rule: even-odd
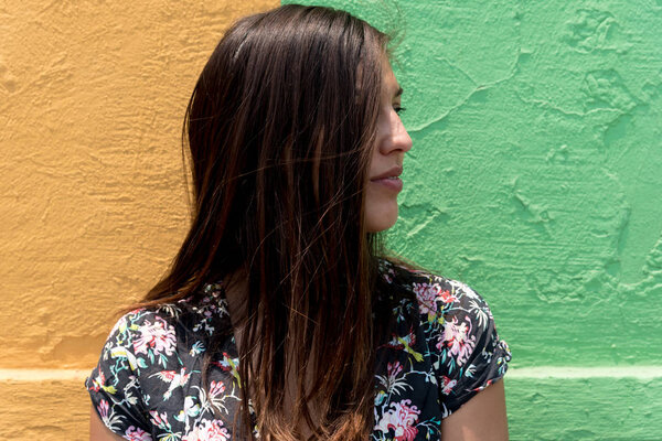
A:
<svg viewBox="0 0 662 441">
<path fill-rule="evenodd" d="M 108 429 L 128 440 L 151 440 L 140 365 L 136 357 L 137 330 L 145 321 L 141 310 L 125 314 L 106 340 L 99 362 L 85 381 L 92 404 Z M 138 342 L 139 343 L 139 342 Z"/>
</svg>

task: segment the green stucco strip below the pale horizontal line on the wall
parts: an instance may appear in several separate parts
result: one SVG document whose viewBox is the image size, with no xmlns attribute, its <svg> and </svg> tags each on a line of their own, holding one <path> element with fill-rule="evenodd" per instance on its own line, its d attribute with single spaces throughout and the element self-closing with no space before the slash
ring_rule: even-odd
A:
<svg viewBox="0 0 662 441">
<path fill-rule="evenodd" d="M 658 378 L 506 380 L 512 441 L 660 440 Z"/>
</svg>

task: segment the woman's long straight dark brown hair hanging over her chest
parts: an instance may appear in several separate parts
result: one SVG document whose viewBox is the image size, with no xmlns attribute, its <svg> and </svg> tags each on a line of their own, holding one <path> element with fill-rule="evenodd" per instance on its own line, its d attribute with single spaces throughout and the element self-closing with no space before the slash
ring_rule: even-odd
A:
<svg viewBox="0 0 662 441">
<path fill-rule="evenodd" d="M 192 225 L 142 304 L 245 275 L 245 438 L 248 392 L 260 438 L 299 439 L 300 421 L 320 439 L 370 435 L 380 249 L 363 205 L 387 40 L 329 8 L 250 15 L 223 36 L 189 103 Z"/>
</svg>

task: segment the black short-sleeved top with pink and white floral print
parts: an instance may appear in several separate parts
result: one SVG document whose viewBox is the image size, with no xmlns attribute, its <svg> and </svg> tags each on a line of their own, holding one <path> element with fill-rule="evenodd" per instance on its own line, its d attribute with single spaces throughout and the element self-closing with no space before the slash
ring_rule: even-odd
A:
<svg viewBox="0 0 662 441">
<path fill-rule="evenodd" d="M 376 349 L 371 440 L 439 440 L 444 418 L 503 377 L 508 344 L 466 284 L 388 260 L 381 276 L 394 295 L 409 295 L 396 297 L 393 334 Z M 220 283 L 205 286 L 195 304 L 181 300 L 120 318 L 86 380 L 106 427 L 134 441 L 232 440 L 242 396 L 234 337 L 215 352 L 209 387 L 202 381 L 218 320 L 229 323 Z"/>
</svg>

